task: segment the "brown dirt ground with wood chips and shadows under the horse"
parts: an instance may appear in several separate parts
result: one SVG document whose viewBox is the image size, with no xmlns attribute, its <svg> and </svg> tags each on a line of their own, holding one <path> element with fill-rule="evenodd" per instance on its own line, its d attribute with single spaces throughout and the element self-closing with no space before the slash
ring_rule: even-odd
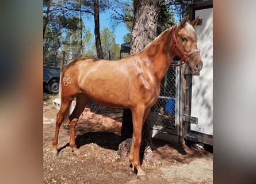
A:
<svg viewBox="0 0 256 184">
<path fill-rule="evenodd" d="M 69 131 L 59 133 L 59 155 L 52 159 L 52 138 L 57 109 L 52 99 L 58 95 L 44 93 L 43 101 L 43 170 L 44 183 L 213 183 L 212 147 L 204 151 L 186 145 L 153 139 L 154 156 L 143 160 L 148 181 L 139 181 L 129 168 L 128 158 L 117 154 L 120 135 L 104 132 L 95 124 L 79 122 L 76 143 L 81 152 L 72 154 L 68 146 Z M 207 151 L 206 151 L 207 150 Z"/>
</svg>

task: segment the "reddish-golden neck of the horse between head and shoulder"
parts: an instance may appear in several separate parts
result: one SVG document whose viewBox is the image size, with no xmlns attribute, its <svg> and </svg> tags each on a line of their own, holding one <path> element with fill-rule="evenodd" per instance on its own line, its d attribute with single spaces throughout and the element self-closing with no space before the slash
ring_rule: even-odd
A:
<svg viewBox="0 0 256 184">
<path fill-rule="evenodd" d="M 175 54 L 172 51 L 173 39 L 171 28 L 165 30 L 154 41 L 139 53 L 140 59 L 147 65 L 148 70 L 155 76 L 156 82 L 161 82 Z"/>
</svg>

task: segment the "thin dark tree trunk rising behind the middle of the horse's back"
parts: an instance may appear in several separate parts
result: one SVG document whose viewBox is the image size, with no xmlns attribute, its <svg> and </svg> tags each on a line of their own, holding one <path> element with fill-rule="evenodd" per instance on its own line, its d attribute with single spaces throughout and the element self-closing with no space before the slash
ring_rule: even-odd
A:
<svg viewBox="0 0 256 184">
<path fill-rule="evenodd" d="M 101 48 L 100 5 L 98 0 L 94 0 L 94 34 L 95 34 L 95 46 L 97 51 L 97 57 L 100 59 L 104 59 L 104 54 Z"/>
</svg>

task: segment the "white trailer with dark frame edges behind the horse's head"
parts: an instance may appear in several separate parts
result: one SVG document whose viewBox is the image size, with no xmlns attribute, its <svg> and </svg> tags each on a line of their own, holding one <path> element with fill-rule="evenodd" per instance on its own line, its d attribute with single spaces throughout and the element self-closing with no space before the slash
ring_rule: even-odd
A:
<svg viewBox="0 0 256 184">
<path fill-rule="evenodd" d="M 189 19 L 199 16 L 195 27 L 204 66 L 199 76 L 186 76 L 185 114 L 197 117 L 196 124 L 185 123 L 185 139 L 213 145 L 213 3 L 194 1 L 189 5 Z M 186 98 L 186 97 L 185 97 Z"/>
</svg>

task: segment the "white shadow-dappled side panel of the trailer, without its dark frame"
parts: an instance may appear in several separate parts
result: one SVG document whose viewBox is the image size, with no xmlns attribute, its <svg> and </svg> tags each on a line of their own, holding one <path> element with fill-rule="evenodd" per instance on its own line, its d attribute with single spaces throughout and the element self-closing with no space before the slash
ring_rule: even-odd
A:
<svg viewBox="0 0 256 184">
<path fill-rule="evenodd" d="M 193 76 L 191 116 L 198 117 L 198 124 L 190 129 L 213 135 L 213 9 L 196 10 L 197 16 L 202 19 L 195 30 L 204 66 L 200 76 Z"/>
</svg>

